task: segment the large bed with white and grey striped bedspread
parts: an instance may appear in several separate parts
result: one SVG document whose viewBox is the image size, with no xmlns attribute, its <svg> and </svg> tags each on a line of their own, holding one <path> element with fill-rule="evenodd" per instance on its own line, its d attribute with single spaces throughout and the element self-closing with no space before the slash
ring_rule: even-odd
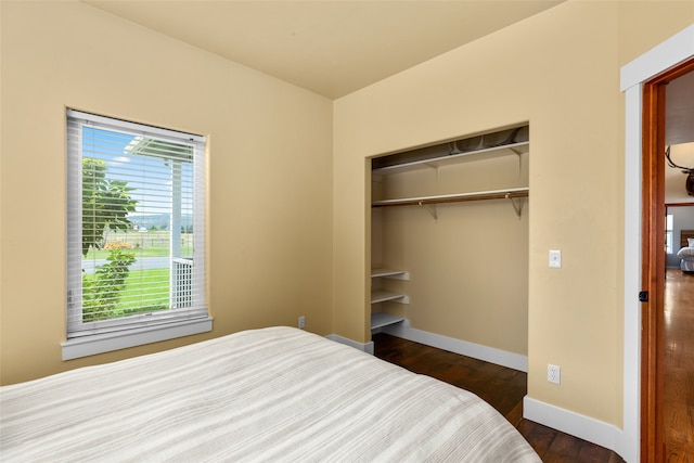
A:
<svg viewBox="0 0 694 463">
<path fill-rule="evenodd" d="M 472 393 L 275 326 L 0 388 L 0 460 L 540 462 Z"/>
</svg>

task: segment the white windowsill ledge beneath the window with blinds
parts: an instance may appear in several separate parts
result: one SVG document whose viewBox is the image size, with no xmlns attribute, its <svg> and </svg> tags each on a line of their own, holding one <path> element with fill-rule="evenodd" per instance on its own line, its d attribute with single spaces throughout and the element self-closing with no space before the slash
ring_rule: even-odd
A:
<svg viewBox="0 0 694 463">
<path fill-rule="evenodd" d="M 73 360 L 210 331 L 213 331 L 213 319 L 211 317 L 204 317 L 157 326 L 76 337 L 61 343 L 61 347 L 63 349 L 63 360 Z"/>
</svg>

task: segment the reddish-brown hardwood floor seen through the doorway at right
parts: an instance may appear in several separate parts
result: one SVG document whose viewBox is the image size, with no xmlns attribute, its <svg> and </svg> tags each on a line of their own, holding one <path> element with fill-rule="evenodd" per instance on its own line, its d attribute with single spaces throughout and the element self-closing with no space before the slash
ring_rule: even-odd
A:
<svg viewBox="0 0 694 463">
<path fill-rule="evenodd" d="M 668 269 L 665 282 L 666 461 L 694 463 L 694 274 Z"/>
</svg>

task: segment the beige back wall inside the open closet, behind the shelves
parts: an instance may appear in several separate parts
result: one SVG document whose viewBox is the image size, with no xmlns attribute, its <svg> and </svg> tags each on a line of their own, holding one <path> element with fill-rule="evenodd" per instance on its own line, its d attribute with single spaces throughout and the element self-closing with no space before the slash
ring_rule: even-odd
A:
<svg viewBox="0 0 694 463">
<path fill-rule="evenodd" d="M 510 154 L 437 169 L 373 176 L 374 200 L 528 185 L 530 156 Z M 532 194 L 530 192 L 530 194 Z M 528 355 L 528 200 L 373 210 L 372 266 L 410 272 L 404 314 L 413 329 Z"/>
</svg>

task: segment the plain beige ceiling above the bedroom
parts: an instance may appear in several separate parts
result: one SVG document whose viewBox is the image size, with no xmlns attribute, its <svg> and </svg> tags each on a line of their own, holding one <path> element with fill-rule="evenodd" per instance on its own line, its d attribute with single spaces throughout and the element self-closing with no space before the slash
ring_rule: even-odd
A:
<svg viewBox="0 0 694 463">
<path fill-rule="evenodd" d="M 564 0 L 82 0 L 330 99 Z"/>
</svg>

